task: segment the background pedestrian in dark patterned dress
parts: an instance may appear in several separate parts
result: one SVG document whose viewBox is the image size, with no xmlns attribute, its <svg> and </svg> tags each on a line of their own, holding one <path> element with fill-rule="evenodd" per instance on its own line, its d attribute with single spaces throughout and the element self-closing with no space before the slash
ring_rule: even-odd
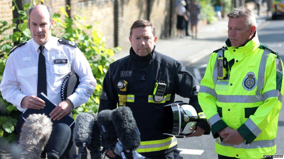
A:
<svg viewBox="0 0 284 159">
<path fill-rule="evenodd" d="M 191 25 L 191 37 L 192 39 L 197 39 L 198 32 L 198 21 L 200 20 L 200 5 L 196 0 L 193 0 L 189 5 L 189 17 L 190 17 L 190 25 Z"/>
</svg>

